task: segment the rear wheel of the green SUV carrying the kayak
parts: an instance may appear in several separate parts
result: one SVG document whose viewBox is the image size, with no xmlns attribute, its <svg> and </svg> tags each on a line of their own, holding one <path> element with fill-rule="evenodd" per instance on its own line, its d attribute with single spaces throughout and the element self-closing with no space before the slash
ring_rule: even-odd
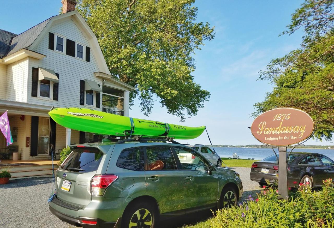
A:
<svg viewBox="0 0 334 228">
<path fill-rule="evenodd" d="M 145 224 L 145 228 L 154 228 L 157 224 L 157 214 L 152 204 L 143 201 L 135 202 L 125 209 L 121 227 L 141 228 Z"/>
</svg>

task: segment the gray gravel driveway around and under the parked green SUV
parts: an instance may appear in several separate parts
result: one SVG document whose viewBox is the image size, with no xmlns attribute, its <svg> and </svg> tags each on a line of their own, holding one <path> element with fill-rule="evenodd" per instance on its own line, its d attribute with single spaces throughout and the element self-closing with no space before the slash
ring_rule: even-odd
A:
<svg viewBox="0 0 334 228">
<path fill-rule="evenodd" d="M 255 196 L 261 189 L 258 183 L 249 180 L 250 168 L 235 167 L 240 173 L 243 183 L 243 199 L 248 195 Z M 52 227 L 74 228 L 56 218 L 48 209 L 47 199 L 52 190 L 52 178 L 26 178 L 10 180 L 9 184 L 0 185 L 0 227 Z M 210 217 L 211 212 L 203 212 L 193 216 L 183 216 L 159 227 L 178 227 L 192 224 Z"/>
</svg>

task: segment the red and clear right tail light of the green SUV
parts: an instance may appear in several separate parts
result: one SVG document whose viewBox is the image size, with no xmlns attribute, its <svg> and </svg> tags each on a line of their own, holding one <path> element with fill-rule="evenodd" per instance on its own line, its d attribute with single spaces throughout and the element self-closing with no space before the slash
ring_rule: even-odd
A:
<svg viewBox="0 0 334 228">
<path fill-rule="evenodd" d="M 92 178 L 91 192 L 93 196 L 103 196 L 106 188 L 116 181 L 116 175 L 97 175 Z"/>
</svg>

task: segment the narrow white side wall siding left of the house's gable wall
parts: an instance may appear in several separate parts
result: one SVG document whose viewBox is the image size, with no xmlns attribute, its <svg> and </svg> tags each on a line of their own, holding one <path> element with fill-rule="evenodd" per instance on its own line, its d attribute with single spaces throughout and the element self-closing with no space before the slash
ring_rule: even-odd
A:
<svg viewBox="0 0 334 228">
<path fill-rule="evenodd" d="M 7 65 L 7 100 L 27 102 L 28 65 L 28 57 Z"/>
</svg>

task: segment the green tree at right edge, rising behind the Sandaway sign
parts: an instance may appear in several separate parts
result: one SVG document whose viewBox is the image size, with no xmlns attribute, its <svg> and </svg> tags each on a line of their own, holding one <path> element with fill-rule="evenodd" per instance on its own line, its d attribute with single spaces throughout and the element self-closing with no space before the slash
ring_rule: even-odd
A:
<svg viewBox="0 0 334 228">
<path fill-rule="evenodd" d="M 297 50 L 273 59 L 260 80 L 274 85 L 253 116 L 275 107 L 295 107 L 318 124 L 316 139 L 331 141 L 334 133 L 334 6 L 333 0 L 306 0 L 293 14 L 283 34 L 304 29 Z"/>
</svg>

